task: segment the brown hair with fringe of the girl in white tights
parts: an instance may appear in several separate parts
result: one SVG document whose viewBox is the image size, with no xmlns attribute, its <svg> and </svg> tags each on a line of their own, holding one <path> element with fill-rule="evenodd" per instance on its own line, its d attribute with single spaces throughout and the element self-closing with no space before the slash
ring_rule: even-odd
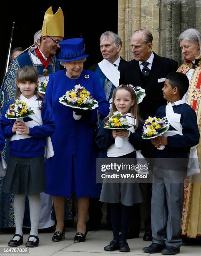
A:
<svg viewBox="0 0 201 256">
<path fill-rule="evenodd" d="M 35 67 L 33 66 L 25 66 L 20 68 L 18 70 L 16 81 L 18 81 L 18 83 L 21 83 L 24 81 L 30 81 L 30 82 L 34 82 L 35 84 L 38 84 L 37 69 L 35 69 Z M 19 100 L 21 94 L 22 93 L 20 91 L 20 88 L 16 84 L 15 100 Z M 42 98 L 38 94 L 38 86 L 35 88 L 34 95 L 36 95 L 40 100 L 42 100 Z M 42 109 L 42 108 L 43 108 L 43 103 L 41 104 L 39 109 Z"/>
</svg>

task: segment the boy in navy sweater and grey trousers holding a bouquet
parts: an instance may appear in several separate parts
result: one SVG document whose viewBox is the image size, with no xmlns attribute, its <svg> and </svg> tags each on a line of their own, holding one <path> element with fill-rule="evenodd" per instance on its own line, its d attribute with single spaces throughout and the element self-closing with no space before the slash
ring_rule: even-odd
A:
<svg viewBox="0 0 201 256">
<path fill-rule="evenodd" d="M 183 181 L 186 174 L 190 148 L 199 142 L 199 130 L 195 111 L 182 100 L 188 90 L 185 74 L 172 72 L 166 77 L 163 97 L 169 103 L 156 112 L 157 118 L 166 117 L 170 128 L 163 136 L 151 139 L 154 158 L 168 158 L 156 161 L 153 168 L 151 201 L 151 225 L 153 241 L 144 247 L 147 253 L 161 252 L 174 255 L 180 252 L 181 213 L 183 206 Z M 151 144 L 150 143 L 150 144 Z M 157 147 L 164 145 L 163 150 Z M 153 148 L 155 146 L 155 148 Z M 181 159 L 175 164 L 176 159 Z M 181 163 L 181 164 L 180 164 Z"/>
</svg>

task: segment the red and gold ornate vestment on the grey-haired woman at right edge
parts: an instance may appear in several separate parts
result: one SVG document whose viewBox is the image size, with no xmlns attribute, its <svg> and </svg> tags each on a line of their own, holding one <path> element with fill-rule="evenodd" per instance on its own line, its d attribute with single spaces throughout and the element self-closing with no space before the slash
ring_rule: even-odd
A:
<svg viewBox="0 0 201 256">
<path fill-rule="evenodd" d="M 186 74 L 192 67 L 191 61 L 182 64 L 177 72 Z M 194 69 L 187 92 L 186 103 L 196 112 L 198 128 L 201 132 L 201 60 Z M 201 158 L 201 139 L 197 147 L 198 159 Z M 200 166 L 201 169 L 201 166 Z M 186 178 L 182 211 L 182 235 L 190 238 L 201 236 L 201 173 Z"/>
</svg>

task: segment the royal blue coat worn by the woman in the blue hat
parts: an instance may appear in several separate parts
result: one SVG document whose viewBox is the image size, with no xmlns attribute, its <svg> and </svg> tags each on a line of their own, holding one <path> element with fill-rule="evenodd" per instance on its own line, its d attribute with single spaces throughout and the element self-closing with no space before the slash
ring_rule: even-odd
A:
<svg viewBox="0 0 201 256">
<path fill-rule="evenodd" d="M 62 105 L 59 98 L 80 84 L 98 101 L 100 116 L 108 112 L 108 102 L 97 74 L 83 70 L 78 79 L 70 79 L 65 70 L 50 74 L 45 97 L 53 107 L 55 133 L 52 136 L 54 156 L 46 160 L 47 193 L 70 197 L 97 195 L 95 128 L 97 111 L 74 120 L 73 108 Z M 86 76 L 88 75 L 88 76 Z"/>
</svg>

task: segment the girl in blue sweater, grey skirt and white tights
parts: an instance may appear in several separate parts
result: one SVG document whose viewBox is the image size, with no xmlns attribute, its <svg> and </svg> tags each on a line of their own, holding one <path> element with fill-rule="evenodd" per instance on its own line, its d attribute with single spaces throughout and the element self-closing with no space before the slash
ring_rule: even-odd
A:
<svg viewBox="0 0 201 256">
<path fill-rule="evenodd" d="M 38 95 L 38 74 L 34 67 L 25 66 L 18 71 L 15 100 L 22 100 L 34 110 L 34 114 L 23 118 L 24 122 L 7 119 L 5 112 L 1 125 L 5 138 L 10 138 L 10 156 L 3 182 L 3 191 L 14 194 L 15 236 L 8 246 L 23 243 L 23 218 L 25 198 L 28 195 L 31 230 L 27 247 L 38 246 L 38 223 L 40 218 L 40 192 L 45 192 L 45 146 L 46 138 L 55 130 L 53 111 L 47 100 Z M 19 134 L 16 133 L 19 132 Z"/>
</svg>

